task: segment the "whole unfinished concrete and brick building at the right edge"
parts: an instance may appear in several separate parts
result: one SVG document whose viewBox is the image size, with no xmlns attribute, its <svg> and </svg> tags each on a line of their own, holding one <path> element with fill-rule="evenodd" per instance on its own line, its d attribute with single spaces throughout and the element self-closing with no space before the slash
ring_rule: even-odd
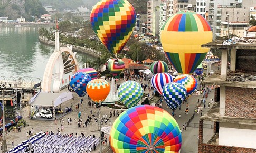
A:
<svg viewBox="0 0 256 153">
<path fill-rule="evenodd" d="M 232 76 L 255 74 L 256 67 L 251 65 L 256 65 L 256 45 L 220 44 L 222 41 L 202 45 L 220 49 L 222 55 L 220 72 L 202 82 L 215 85 L 215 103 L 200 118 L 198 152 L 256 152 L 256 80 L 237 81 L 230 77 L 230 72 Z M 203 142 L 204 121 L 214 122 L 213 136 L 206 143 Z"/>
</svg>

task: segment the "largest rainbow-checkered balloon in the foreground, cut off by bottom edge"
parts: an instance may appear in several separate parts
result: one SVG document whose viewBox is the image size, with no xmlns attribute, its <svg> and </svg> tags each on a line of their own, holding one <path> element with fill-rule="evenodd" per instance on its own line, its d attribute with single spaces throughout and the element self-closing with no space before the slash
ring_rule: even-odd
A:
<svg viewBox="0 0 256 153">
<path fill-rule="evenodd" d="M 129 108 L 110 131 L 113 152 L 178 152 L 182 137 L 176 120 L 165 110 L 150 105 Z"/>
</svg>

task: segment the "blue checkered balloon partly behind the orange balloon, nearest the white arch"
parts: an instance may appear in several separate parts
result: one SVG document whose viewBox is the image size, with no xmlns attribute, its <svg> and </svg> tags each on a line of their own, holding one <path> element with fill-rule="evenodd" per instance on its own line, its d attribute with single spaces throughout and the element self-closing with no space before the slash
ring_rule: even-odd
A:
<svg viewBox="0 0 256 153">
<path fill-rule="evenodd" d="M 91 76 L 87 73 L 77 72 L 70 78 L 69 85 L 80 97 L 86 95 L 86 85 L 91 81 Z"/>
</svg>

